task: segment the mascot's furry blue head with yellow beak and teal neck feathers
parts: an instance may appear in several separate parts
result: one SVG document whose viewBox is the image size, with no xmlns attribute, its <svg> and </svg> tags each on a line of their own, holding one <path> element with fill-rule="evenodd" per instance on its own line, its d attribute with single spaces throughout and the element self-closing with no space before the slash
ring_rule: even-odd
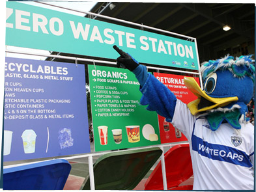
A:
<svg viewBox="0 0 256 192">
<path fill-rule="evenodd" d="M 229 55 L 216 61 L 210 60 L 203 63 L 200 72 L 203 90 L 192 77 L 184 78 L 186 87 L 197 96 L 197 100 L 188 103 L 191 113 L 204 114 L 209 123 L 212 121 L 212 130 L 217 130 L 224 119 L 239 129 L 239 122 L 245 120 L 246 104 L 253 96 L 255 68 L 251 55 L 236 60 Z M 221 119 L 220 122 L 216 118 Z"/>
</svg>

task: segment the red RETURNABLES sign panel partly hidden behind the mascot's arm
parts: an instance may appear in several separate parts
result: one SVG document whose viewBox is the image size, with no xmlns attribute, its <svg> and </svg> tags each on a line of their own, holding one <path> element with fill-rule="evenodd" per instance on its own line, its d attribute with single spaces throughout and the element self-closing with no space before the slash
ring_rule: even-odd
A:
<svg viewBox="0 0 256 192">
<path fill-rule="evenodd" d="M 183 103 L 188 104 L 193 100 L 196 100 L 197 97 L 188 90 L 184 85 L 184 76 L 183 75 L 173 75 L 173 74 L 161 74 L 154 73 L 156 79 L 175 94 L 176 98 L 181 100 Z M 199 83 L 199 78 L 194 77 L 195 81 Z M 164 117 L 158 115 L 161 143 L 175 143 L 180 141 L 187 141 L 186 137 L 173 125 L 165 120 Z"/>
</svg>

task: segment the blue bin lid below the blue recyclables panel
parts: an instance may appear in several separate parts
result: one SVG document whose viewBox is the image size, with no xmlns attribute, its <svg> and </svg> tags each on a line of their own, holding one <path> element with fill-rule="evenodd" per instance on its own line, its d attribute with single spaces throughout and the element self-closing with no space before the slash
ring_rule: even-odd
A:
<svg viewBox="0 0 256 192">
<path fill-rule="evenodd" d="M 71 165 L 65 159 L 53 159 L 3 169 L 4 190 L 62 190 Z"/>
</svg>

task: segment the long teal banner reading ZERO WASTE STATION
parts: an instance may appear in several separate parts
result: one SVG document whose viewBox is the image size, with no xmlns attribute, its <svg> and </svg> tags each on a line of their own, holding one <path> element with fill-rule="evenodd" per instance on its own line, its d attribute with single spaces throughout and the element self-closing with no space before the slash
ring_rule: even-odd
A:
<svg viewBox="0 0 256 192">
<path fill-rule="evenodd" d="M 14 1 L 7 2 L 6 44 L 107 59 L 113 45 L 137 61 L 198 70 L 195 42 Z"/>
</svg>

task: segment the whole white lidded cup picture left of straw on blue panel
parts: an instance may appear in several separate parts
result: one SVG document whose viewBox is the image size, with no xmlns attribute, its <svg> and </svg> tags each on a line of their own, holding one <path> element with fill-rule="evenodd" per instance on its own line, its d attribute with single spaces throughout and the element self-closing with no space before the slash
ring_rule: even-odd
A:
<svg viewBox="0 0 256 192">
<path fill-rule="evenodd" d="M 33 154 L 36 149 L 36 133 L 34 130 L 25 130 L 22 135 L 25 154 Z"/>
</svg>

